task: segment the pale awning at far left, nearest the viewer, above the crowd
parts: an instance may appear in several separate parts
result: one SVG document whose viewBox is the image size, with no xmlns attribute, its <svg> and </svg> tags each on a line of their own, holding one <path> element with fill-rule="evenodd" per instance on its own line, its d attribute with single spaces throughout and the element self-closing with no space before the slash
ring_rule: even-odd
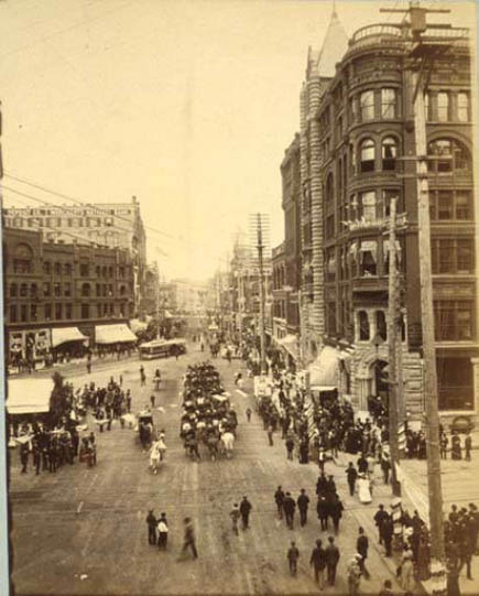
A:
<svg viewBox="0 0 479 596">
<path fill-rule="evenodd" d="M 52 379 L 12 379 L 8 382 L 9 414 L 40 414 L 50 411 Z"/>
</svg>

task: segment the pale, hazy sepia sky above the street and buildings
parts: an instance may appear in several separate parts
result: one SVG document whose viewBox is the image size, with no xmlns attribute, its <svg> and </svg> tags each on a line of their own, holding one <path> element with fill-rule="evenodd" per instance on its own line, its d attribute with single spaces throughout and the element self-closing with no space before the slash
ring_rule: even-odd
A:
<svg viewBox="0 0 479 596">
<path fill-rule="evenodd" d="M 475 28 L 473 2 L 425 4 L 451 8 L 454 24 Z M 168 278 L 225 268 L 220 258 L 250 213 L 271 214 L 274 246 L 283 226 L 279 166 L 298 130 L 307 47 L 320 47 L 331 6 L 1 1 L 6 173 L 85 202 L 137 195 L 144 223 L 166 234 L 149 230 L 148 252 Z M 380 14 L 381 6 L 406 3 L 338 0 L 337 12 L 350 35 L 401 19 Z M 8 176 L 3 184 L 64 203 Z M 6 206 L 25 205 L 3 195 Z"/>
</svg>

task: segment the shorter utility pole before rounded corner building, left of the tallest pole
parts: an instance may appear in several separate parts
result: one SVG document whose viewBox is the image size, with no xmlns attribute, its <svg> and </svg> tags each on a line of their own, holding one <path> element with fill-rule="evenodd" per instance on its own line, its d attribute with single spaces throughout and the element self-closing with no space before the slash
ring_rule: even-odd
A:
<svg viewBox="0 0 479 596">
<path fill-rule="evenodd" d="M 395 248 L 395 226 L 396 226 L 396 203 L 398 198 L 392 197 L 390 204 L 390 226 L 389 226 L 389 317 L 388 317 L 388 346 L 389 346 L 389 445 L 391 451 L 392 464 L 392 490 L 396 497 L 401 496 L 401 485 L 398 481 L 396 465 L 400 460 L 398 443 L 398 402 L 402 395 L 399 395 L 396 362 L 398 362 L 398 270 L 396 270 L 396 248 Z M 401 346 L 400 346 L 401 347 Z"/>
</svg>

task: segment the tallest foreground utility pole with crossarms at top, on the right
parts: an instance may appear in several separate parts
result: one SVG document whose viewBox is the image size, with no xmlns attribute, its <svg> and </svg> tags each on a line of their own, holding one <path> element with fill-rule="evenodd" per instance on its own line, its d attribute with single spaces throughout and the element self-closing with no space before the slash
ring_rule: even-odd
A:
<svg viewBox="0 0 479 596">
<path fill-rule="evenodd" d="M 410 22 L 404 25 L 405 68 L 412 71 L 412 101 L 414 109 L 416 188 L 417 188 L 417 227 L 420 245 L 420 277 L 421 277 L 421 311 L 422 311 L 422 344 L 424 356 L 424 395 L 425 395 L 425 431 L 427 447 L 427 489 L 429 501 L 429 530 L 432 572 L 436 579 L 433 593 L 445 593 L 444 581 L 444 524 L 443 524 L 443 492 L 440 485 L 439 457 L 439 412 L 437 400 L 436 350 L 434 339 L 433 282 L 431 263 L 431 219 L 427 180 L 427 141 L 426 119 L 424 110 L 424 93 L 431 76 L 434 59 L 444 55 L 451 44 L 461 37 L 458 35 L 439 36 L 436 31 L 442 29 L 457 30 L 449 24 L 426 23 L 427 13 L 449 13 L 447 9 L 424 9 L 420 2 L 411 2 L 407 10 L 381 9 L 381 12 L 407 13 Z M 427 35 L 433 30 L 435 34 Z M 426 79 L 426 80 L 425 80 Z M 391 362 L 390 362 L 391 366 Z M 434 571 L 433 571 L 434 568 Z"/>
</svg>

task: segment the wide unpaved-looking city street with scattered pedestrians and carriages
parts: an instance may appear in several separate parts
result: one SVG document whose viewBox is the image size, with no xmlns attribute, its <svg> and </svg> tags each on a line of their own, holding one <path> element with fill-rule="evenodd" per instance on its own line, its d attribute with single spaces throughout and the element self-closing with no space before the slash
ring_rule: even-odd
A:
<svg viewBox="0 0 479 596">
<path fill-rule="evenodd" d="M 156 395 L 154 418 L 165 429 L 166 462 L 157 476 L 148 468 L 137 433 L 113 423 L 110 432 L 97 434 L 98 465 L 87 468 L 75 463 L 56 474 L 35 476 L 29 467 L 20 474 L 19 455 L 12 453 L 10 498 L 13 517 L 13 581 L 18 594 L 317 594 L 309 555 L 314 541 L 327 539 L 316 517 L 314 464 L 289 462 L 284 442 L 275 435 L 274 446 L 255 413 L 247 423 L 244 411 L 253 399 L 236 391 L 232 377 L 239 361 L 215 360 L 226 389 L 233 395 L 239 414 L 238 441 L 231 460 L 210 462 L 203 447 L 202 462 L 186 457 L 178 437 L 182 375 L 188 362 L 204 355 L 190 347 L 188 355 L 144 362 L 146 387 L 140 388 L 138 359 L 94 366 L 88 380 L 105 384 L 110 376 L 123 376 L 131 388 L 132 411 L 149 402 L 151 379 L 161 368 L 164 383 Z M 39 372 L 39 377 L 51 372 Z M 68 367 L 65 377 L 80 386 L 87 381 L 84 366 Z M 246 389 L 247 390 L 247 389 Z M 371 522 L 377 505 L 388 502 L 390 490 L 378 479 L 374 499 L 361 506 L 347 496 L 344 467 L 329 464 L 345 503 L 337 543 L 341 551 L 335 588 L 347 593 L 346 565 L 355 552 L 358 527 L 370 538 L 370 581 L 361 593 L 378 594 L 385 578 L 393 579 L 391 561 L 382 556 Z M 305 488 L 311 511 L 305 528 L 290 531 L 276 519 L 274 490 L 281 484 L 297 498 Z M 248 496 L 253 510 L 251 528 L 236 537 L 229 512 L 235 501 Z M 165 511 L 170 524 L 167 552 L 148 543 L 145 517 L 149 509 Z M 178 562 L 183 541 L 183 518 L 193 518 L 199 559 Z M 301 552 L 298 574 L 291 577 L 286 551 L 295 540 Z M 387 564 L 390 566 L 388 567 Z M 393 582 L 394 585 L 394 582 Z"/>
</svg>

